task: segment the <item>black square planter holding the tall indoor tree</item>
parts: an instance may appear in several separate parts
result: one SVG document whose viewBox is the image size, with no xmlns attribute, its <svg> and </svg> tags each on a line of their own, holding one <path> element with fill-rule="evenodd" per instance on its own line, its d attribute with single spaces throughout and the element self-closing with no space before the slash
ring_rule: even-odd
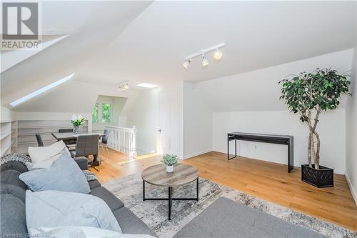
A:
<svg viewBox="0 0 357 238">
<path fill-rule="evenodd" d="M 315 187 L 333 187 L 333 169 L 319 166 L 320 169 L 301 164 L 301 180 Z"/>
</svg>

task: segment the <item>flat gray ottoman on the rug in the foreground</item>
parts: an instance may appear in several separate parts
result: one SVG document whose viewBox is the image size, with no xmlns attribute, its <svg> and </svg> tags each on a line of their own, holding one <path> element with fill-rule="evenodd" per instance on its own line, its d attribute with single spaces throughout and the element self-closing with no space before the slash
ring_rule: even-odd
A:
<svg viewBox="0 0 357 238">
<path fill-rule="evenodd" d="M 221 197 L 186 224 L 174 237 L 318 238 L 324 236 Z"/>
</svg>

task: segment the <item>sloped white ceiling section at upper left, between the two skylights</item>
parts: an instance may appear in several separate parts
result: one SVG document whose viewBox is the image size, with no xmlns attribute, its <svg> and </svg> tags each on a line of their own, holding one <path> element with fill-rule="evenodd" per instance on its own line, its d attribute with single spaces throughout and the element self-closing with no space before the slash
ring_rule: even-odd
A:
<svg viewBox="0 0 357 238">
<path fill-rule="evenodd" d="M 1 104 L 7 105 L 69 74 L 75 73 L 79 79 L 76 72 L 83 61 L 95 58 L 149 4 L 150 1 L 44 1 L 43 32 L 69 36 L 2 72 Z M 96 83 L 101 83 L 100 78 Z M 79 92 L 78 96 L 86 94 Z M 71 110 L 71 105 L 67 106 Z"/>
</svg>

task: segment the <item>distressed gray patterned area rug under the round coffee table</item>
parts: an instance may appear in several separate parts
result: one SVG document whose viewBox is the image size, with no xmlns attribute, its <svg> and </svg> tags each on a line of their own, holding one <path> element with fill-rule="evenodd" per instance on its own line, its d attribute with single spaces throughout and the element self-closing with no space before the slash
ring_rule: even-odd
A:
<svg viewBox="0 0 357 238">
<path fill-rule="evenodd" d="M 159 237 L 169 238 L 182 229 L 194 217 L 219 197 L 226 197 L 245 204 L 248 207 L 261 210 L 275 217 L 306 229 L 312 229 L 326 237 L 356 238 L 357 233 L 336 224 L 324 222 L 286 207 L 258 199 L 235 189 L 224 187 L 206 179 L 199 179 L 199 201 L 173 201 L 171 221 L 168 219 L 167 201 L 143 201 L 143 183 L 141 173 L 132 174 L 120 179 L 114 179 L 103 184 L 106 189 L 116 195 L 125 206 L 134 212 Z M 168 189 L 146 183 L 146 197 L 167 197 Z M 196 183 L 187 184 L 173 189 L 173 197 L 195 197 Z"/>
</svg>

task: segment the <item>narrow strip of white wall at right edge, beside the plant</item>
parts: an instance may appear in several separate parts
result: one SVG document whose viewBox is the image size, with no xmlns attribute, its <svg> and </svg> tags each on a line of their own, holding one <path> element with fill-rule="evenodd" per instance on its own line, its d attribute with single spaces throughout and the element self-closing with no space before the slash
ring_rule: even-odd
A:
<svg viewBox="0 0 357 238">
<path fill-rule="evenodd" d="M 351 70 L 352 96 L 346 108 L 346 179 L 357 204 L 357 44 Z"/>
</svg>

